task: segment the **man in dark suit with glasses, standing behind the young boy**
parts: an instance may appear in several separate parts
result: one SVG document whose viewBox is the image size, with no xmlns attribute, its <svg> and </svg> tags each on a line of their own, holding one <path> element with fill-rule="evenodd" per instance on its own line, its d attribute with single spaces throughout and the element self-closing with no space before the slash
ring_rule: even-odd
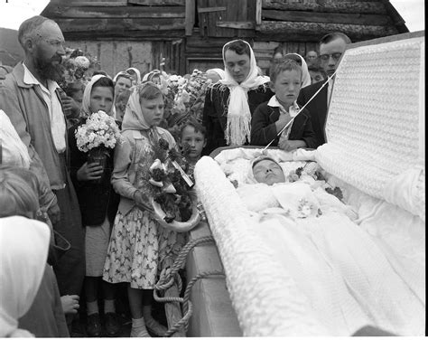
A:
<svg viewBox="0 0 428 340">
<path fill-rule="evenodd" d="M 320 41 L 320 66 L 330 77 L 339 66 L 340 57 L 345 52 L 347 44 L 350 43 L 350 39 L 346 34 L 343 33 L 329 33 L 324 35 Z M 297 103 L 302 108 L 309 99 L 315 94 L 316 91 L 320 90 L 324 81 L 317 82 L 302 88 L 297 99 Z M 329 84 L 318 93 L 314 99 L 306 106 L 308 109 L 311 119 L 312 127 L 318 140 L 318 144 L 321 146 L 326 142 L 325 140 L 325 121 L 327 118 L 327 111 L 329 109 L 330 93 L 333 85 L 333 79 L 329 81 Z"/>
</svg>

